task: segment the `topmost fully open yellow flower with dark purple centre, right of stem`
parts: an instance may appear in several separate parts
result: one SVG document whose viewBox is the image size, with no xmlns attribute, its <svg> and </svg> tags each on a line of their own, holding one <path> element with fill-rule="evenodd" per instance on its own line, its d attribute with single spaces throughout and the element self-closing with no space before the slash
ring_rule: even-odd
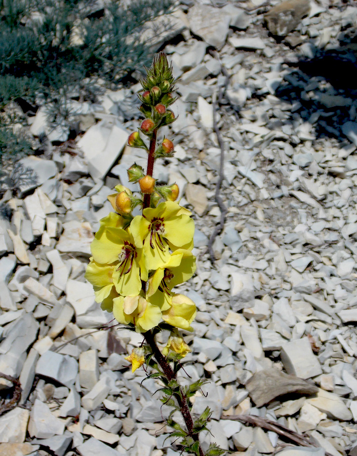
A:
<svg viewBox="0 0 357 456">
<path fill-rule="evenodd" d="M 130 229 L 135 245 L 144 247 L 145 269 L 161 268 L 170 258 L 169 248 L 192 249 L 194 222 L 190 212 L 173 201 L 160 203 L 156 208 L 146 208 L 137 215 Z M 148 277 L 142 274 L 141 278 Z"/>
</svg>

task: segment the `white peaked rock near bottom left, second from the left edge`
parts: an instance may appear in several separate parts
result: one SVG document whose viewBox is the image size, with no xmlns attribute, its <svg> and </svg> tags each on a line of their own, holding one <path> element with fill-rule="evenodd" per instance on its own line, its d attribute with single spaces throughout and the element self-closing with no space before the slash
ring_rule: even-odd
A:
<svg viewBox="0 0 357 456">
<path fill-rule="evenodd" d="M 48 405 L 35 399 L 31 408 L 28 433 L 31 437 L 47 439 L 54 435 L 62 435 L 64 421 L 56 418 L 50 411 Z"/>
</svg>

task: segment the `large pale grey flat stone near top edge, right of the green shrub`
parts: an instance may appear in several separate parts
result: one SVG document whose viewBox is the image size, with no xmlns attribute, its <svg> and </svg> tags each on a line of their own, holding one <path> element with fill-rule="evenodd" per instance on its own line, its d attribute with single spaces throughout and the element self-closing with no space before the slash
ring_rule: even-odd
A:
<svg viewBox="0 0 357 456">
<path fill-rule="evenodd" d="M 220 50 L 227 38 L 229 17 L 218 8 L 195 4 L 187 14 L 190 29 L 210 46 Z"/>
</svg>

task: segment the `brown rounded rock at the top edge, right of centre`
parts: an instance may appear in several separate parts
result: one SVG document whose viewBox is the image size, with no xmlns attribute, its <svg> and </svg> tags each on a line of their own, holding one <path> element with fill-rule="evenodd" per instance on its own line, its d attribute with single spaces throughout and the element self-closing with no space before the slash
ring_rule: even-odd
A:
<svg viewBox="0 0 357 456">
<path fill-rule="evenodd" d="M 301 19 L 310 11 L 308 0 L 286 0 L 273 8 L 265 15 L 270 33 L 275 36 L 286 36 L 296 28 Z"/>
</svg>

